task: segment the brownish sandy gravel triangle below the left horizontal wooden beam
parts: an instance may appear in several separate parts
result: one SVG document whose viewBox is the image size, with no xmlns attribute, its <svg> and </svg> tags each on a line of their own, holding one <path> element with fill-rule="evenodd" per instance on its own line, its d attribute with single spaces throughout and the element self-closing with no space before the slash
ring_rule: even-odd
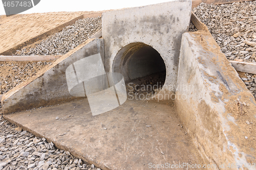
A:
<svg viewBox="0 0 256 170">
<path fill-rule="evenodd" d="M 51 62 L 0 62 L 0 94 L 4 94 L 36 75 Z"/>
</svg>

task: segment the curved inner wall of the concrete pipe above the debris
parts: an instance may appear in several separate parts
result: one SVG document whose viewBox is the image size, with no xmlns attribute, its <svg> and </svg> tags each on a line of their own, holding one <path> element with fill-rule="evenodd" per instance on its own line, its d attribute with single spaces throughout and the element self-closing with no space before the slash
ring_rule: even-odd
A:
<svg viewBox="0 0 256 170">
<path fill-rule="evenodd" d="M 160 54 L 152 46 L 141 42 L 122 47 L 113 61 L 112 68 L 113 72 L 123 75 L 126 83 L 154 77 L 157 78 L 154 83 L 160 81 L 163 85 L 166 76 L 165 64 Z"/>
</svg>

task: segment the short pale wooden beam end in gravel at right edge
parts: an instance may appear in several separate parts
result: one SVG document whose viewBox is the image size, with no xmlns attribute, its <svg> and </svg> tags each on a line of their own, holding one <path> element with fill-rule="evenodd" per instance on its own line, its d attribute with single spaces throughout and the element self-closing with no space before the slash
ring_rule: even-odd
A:
<svg viewBox="0 0 256 170">
<path fill-rule="evenodd" d="M 230 60 L 231 65 L 237 71 L 248 72 L 250 74 L 256 74 L 256 63 L 240 62 Z"/>
</svg>

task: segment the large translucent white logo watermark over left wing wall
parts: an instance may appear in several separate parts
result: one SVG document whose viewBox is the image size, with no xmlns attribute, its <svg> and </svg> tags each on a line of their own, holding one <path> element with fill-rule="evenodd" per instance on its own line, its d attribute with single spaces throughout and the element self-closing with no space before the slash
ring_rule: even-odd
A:
<svg viewBox="0 0 256 170">
<path fill-rule="evenodd" d="M 113 110 L 127 99 L 123 76 L 117 72 L 106 73 L 100 54 L 68 66 L 66 79 L 71 95 L 87 96 L 93 115 Z"/>
</svg>

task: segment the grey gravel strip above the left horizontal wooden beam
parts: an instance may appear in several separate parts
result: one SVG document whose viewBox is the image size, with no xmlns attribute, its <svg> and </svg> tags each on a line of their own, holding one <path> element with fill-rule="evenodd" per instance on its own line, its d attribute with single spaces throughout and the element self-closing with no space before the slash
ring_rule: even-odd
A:
<svg viewBox="0 0 256 170">
<path fill-rule="evenodd" d="M 72 26 L 42 40 L 35 48 L 24 47 L 14 55 L 63 55 L 101 29 L 101 17 L 78 19 Z"/>
</svg>

